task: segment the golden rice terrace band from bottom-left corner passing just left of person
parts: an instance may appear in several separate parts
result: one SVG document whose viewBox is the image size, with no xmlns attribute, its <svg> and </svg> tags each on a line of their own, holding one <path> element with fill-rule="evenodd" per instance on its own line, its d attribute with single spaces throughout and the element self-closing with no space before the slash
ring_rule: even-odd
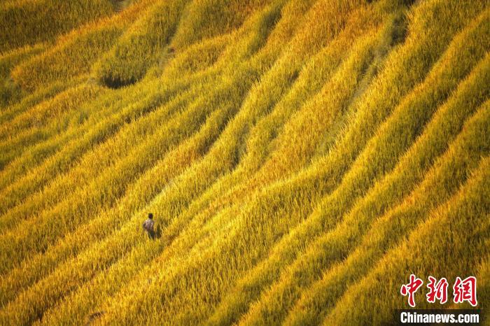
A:
<svg viewBox="0 0 490 326">
<path fill-rule="evenodd" d="M 210 115 L 207 122 L 204 123 L 201 131 L 196 134 L 195 137 L 190 139 L 190 141 L 193 141 L 194 139 L 196 141 L 200 141 L 201 143 L 192 144 L 190 148 L 197 146 L 202 150 L 206 150 L 206 147 L 209 146 L 209 144 L 207 144 L 209 141 L 208 137 L 212 137 L 212 134 L 219 132 L 219 126 L 223 125 L 226 122 L 226 120 L 229 118 L 229 113 L 230 107 L 224 110 L 218 109 L 217 111 L 215 111 L 214 114 Z M 186 150 L 185 147 L 184 150 Z M 176 154 L 172 155 L 172 153 Z M 167 179 L 160 179 L 160 187 L 165 186 L 166 181 L 168 182 L 169 180 L 172 180 L 173 174 L 179 173 L 179 163 L 182 160 L 179 160 L 179 155 L 184 153 L 186 153 L 186 151 L 184 151 L 183 153 L 171 152 L 169 153 L 169 155 L 167 155 L 170 161 L 165 159 L 162 161 L 162 164 L 170 167 L 167 167 Z M 183 158 L 188 159 L 188 157 Z M 172 159 L 174 159 L 175 161 L 172 162 Z M 160 168 L 161 167 L 162 166 L 160 166 Z M 156 170 L 152 174 L 155 173 Z M 158 173 L 162 173 L 162 171 L 160 170 L 158 171 Z M 165 173 L 163 174 L 163 176 L 165 176 Z M 149 177 L 150 176 L 148 176 L 147 178 Z M 146 180 L 147 178 L 145 178 L 145 180 L 141 180 L 141 183 L 143 183 L 144 186 L 148 185 Z M 141 183 L 139 187 L 143 187 Z M 158 191 L 158 183 L 154 186 L 155 190 L 153 190 L 153 192 Z M 137 187 L 135 188 L 135 191 L 133 193 L 139 194 L 139 190 L 141 189 Z M 128 195 L 131 196 L 132 194 L 130 193 Z M 150 193 L 148 194 L 148 196 L 151 197 L 152 194 Z M 16 297 L 13 302 L 7 304 L 7 306 L 5 307 L 6 313 L 3 315 L 0 314 L 0 318 L 16 320 L 15 323 L 20 324 L 31 323 L 33 320 L 38 318 L 38 313 L 42 313 L 50 306 L 54 305 L 57 300 L 62 299 L 64 295 L 67 295 L 75 288 L 80 287 L 84 282 L 90 281 L 90 279 L 96 276 L 98 272 L 104 271 L 106 267 L 113 264 L 113 262 L 116 262 L 118 260 L 118 257 L 124 257 L 125 253 L 130 251 L 132 246 L 141 244 L 141 241 L 145 241 L 146 238 L 142 238 L 139 232 L 135 232 L 135 229 L 138 229 L 140 227 L 140 216 L 144 212 L 135 211 L 134 214 L 130 215 L 129 220 L 127 219 L 127 216 L 119 213 L 121 209 L 130 210 L 132 208 L 132 210 L 138 210 L 139 208 L 141 208 L 137 206 L 132 206 L 132 203 L 130 202 L 131 197 L 128 198 L 129 202 L 126 205 L 129 205 L 129 207 L 120 206 L 118 207 L 118 209 L 113 210 L 112 214 L 109 213 L 109 215 L 101 216 L 101 220 L 96 220 L 94 225 L 90 225 L 90 227 L 94 227 L 94 231 L 97 229 L 97 227 L 101 227 L 102 225 L 104 225 L 104 227 L 121 227 L 120 229 L 116 229 L 116 231 L 113 233 L 110 232 L 110 229 L 106 229 L 103 234 L 100 234 L 100 241 L 95 243 L 92 243 L 92 241 L 97 239 L 93 239 L 93 234 L 91 234 L 90 238 L 92 239 L 84 239 L 84 242 L 86 243 L 85 247 L 88 245 L 90 245 L 90 247 L 88 247 L 86 250 L 83 250 L 77 257 L 74 257 L 73 259 L 68 260 L 64 263 L 62 263 L 62 261 L 60 261 L 59 259 L 55 259 L 55 262 L 59 264 L 57 268 L 53 270 L 50 275 L 43 278 L 40 282 L 25 289 L 24 292 L 20 292 L 20 295 L 18 295 L 18 297 Z M 144 204 L 144 202 L 141 204 Z M 108 223 L 109 225 L 107 225 Z M 79 232 L 79 235 L 87 234 L 87 231 L 89 231 L 88 234 L 90 234 L 90 229 L 87 229 L 86 227 L 82 227 L 80 231 L 81 232 Z M 106 236 L 106 238 L 104 238 L 104 236 Z M 75 235 L 71 237 L 71 239 L 73 239 L 73 241 L 76 241 L 78 237 Z M 63 246 L 65 248 L 67 247 L 66 245 L 70 247 L 69 245 L 73 241 L 70 241 L 70 239 L 68 239 L 68 242 L 66 244 L 63 243 Z M 100 256 L 96 257 L 94 255 Z M 39 300 L 41 297 L 43 299 Z M 11 316 L 11 312 L 20 309 L 20 307 L 25 307 L 26 304 L 31 307 L 30 309 L 34 311 L 33 313 L 22 314 L 22 319 L 16 319 Z"/>
</svg>

